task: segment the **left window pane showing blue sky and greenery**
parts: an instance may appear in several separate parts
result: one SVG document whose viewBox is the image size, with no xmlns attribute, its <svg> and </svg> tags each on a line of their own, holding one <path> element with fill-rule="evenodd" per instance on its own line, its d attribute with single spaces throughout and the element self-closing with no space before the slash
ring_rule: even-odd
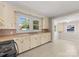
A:
<svg viewBox="0 0 79 59">
<path fill-rule="evenodd" d="M 25 16 L 18 16 L 17 22 L 16 22 L 16 30 L 17 32 L 28 32 L 29 31 L 29 19 Z"/>
</svg>

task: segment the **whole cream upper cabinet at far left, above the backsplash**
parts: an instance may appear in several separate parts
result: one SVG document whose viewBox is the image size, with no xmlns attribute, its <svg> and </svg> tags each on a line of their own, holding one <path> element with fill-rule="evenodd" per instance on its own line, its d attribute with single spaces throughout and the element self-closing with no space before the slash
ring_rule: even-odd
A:
<svg viewBox="0 0 79 59">
<path fill-rule="evenodd" d="M 15 12 L 12 6 L 0 4 L 0 29 L 15 29 Z"/>
</svg>

